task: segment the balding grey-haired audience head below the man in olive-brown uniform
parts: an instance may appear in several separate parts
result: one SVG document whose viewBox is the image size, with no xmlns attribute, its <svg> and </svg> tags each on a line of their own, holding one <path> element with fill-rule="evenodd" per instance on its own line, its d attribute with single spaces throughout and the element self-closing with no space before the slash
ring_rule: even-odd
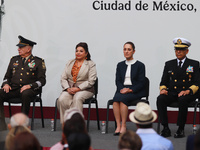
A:
<svg viewBox="0 0 200 150">
<path fill-rule="evenodd" d="M 16 113 L 10 118 L 10 124 L 8 124 L 8 129 L 10 130 L 16 126 L 29 126 L 29 118 L 24 113 Z"/>
</svg>

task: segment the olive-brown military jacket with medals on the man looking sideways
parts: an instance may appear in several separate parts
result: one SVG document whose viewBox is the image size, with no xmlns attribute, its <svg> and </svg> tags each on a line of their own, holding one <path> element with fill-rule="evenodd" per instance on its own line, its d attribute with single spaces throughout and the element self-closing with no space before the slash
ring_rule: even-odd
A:
<svg viewBox="0 0 200 150">
<path fill-rule="evenodd" d="M 9 84 L 14 90 L 29 84 L 32 89 L 37 90 L 46 83 L 45 73 L 46 67 L 43 59 L 31 55 L 23 64 L 20 55 L 14 56 L 8 65 L 2 87 Z"/>
</svg>

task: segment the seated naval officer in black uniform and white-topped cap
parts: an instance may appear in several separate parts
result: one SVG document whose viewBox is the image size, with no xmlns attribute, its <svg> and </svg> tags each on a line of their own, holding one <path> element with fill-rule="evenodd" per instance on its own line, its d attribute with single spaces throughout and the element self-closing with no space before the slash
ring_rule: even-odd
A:
<svg viewBox="0 0 200 150">
<path fill-rule="evenodd" d="M 160 95 L 157 98 L 157 109 L 164 126 L 161 135 L 171 136 L 168 127 L 167 105 L 177 101 L 179 105 L 177 125 L 174 138 L 184 137 L 184 126 L 187 120 L 188 104 L 197 98 L 200 83 L 199 62 L 186 57 L 191 43 L 184 38 L 173 40 L 177 59 L 165 63 L 160 82 Z"/>
</svg>

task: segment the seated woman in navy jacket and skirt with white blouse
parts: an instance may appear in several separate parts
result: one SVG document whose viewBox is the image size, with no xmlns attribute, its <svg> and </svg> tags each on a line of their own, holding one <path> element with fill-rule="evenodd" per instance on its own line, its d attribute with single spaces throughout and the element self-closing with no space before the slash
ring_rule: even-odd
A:
<svg viewBox="0 0 200 150">
<path fill-rule="evenodd" d="M 124 44 L 125 61 L 117 64 L 116 86 L 113 98 L 113 112 L 117 122 L 114 135 L 126 131 L 126 120 L 130 102 L 145 96 L 145 66 L 142 62 L 133 59 L 135 45 L 132 42 Z"/>
</svg>

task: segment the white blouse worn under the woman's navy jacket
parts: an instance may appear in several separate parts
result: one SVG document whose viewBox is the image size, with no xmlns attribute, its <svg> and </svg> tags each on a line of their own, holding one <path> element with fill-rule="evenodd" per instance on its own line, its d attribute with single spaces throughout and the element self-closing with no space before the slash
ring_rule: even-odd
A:
<svg viewBox="0 0 200 150">
<path fill-rule="evenodd" d="M 134 64 L 137 60 L 133 59 L 133 60 L 126 60 L 126 64 L 127 69 L 126 69 L 126 75 L 125 75 L 125 79 L 124 79 L 124 85 L 132 85 L 131 82 L 131 65 Z"/>
</svg>

